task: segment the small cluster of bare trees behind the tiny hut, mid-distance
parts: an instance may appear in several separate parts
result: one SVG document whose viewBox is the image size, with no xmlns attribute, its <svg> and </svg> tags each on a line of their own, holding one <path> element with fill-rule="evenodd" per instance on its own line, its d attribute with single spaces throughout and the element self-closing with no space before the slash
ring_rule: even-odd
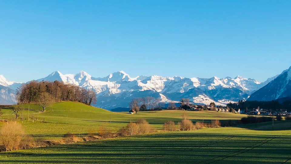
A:
<svg viewBox="0 0 291 164">
<path fill-rule="evenodd" d="M 129 108 L 135 111 L 147 111 L 154 109 L 161 109 L 165 104 L 160 102 L 160 98 L 142 97 L 134 98 L 129 102 Z"/>
</svg>

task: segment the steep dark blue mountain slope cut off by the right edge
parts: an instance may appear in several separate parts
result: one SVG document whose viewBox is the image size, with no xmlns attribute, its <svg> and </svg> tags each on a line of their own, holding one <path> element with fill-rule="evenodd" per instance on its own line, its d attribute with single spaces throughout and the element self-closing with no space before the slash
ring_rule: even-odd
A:
<svg viewBox="0 0 291 164">
<path fill-rule="evenodd" d="M 272 101 L 278 98 L 291 96 L 291 67 L 284 70 L 273 81 L 254 92 L 249 100 L 251 101 Z"/>
</svg>

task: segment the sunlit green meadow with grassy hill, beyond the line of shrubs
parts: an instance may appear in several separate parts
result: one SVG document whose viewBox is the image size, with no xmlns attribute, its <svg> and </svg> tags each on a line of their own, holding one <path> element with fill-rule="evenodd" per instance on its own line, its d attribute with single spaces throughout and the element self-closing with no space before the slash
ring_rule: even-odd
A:
<svg viewBox="0 0 291 164">
<path fill-rule="evenodd" d="M 42 108 L 40 106 L 30 104 L 30 121 L 28 122 L 28 104 L 22 105 L 22 108 L 25 108 L 25 110 L 20 115 L 18 122 L 23 125 L 28 134 L 46 139 L 62 137 L 67 132 L 81 136 L 88 135 L 89 129 L 98 131 L 98 128 L 104 123 L 109 123 L 114 133 L 130 121 L 134 122 L 138 118 L 146 119 L 154 130 L 161 130 L 165 121 L 178 123 L 185 113 L 185 111 L 164 110 L 139 111 L 138 114 L 128 114 L 128 112 L 110 112 L 81 103 L 60 102 L 52 104 L 45 112 L 41 112 Z M 15 118 L 13 114 L 11 115 L 10 109 L 2 108 L 2 111 L 4 111 L 4 114 L 0 117 L 1 119 L 13 120 Z M 223 122 L 246 116 L 214 111 L 186 111 L 186 113 L 193 123 L 196 121 L 210 123 L 214 119 Z M 0 123 L 0 126 L 2 124 Z"/>
</svg>

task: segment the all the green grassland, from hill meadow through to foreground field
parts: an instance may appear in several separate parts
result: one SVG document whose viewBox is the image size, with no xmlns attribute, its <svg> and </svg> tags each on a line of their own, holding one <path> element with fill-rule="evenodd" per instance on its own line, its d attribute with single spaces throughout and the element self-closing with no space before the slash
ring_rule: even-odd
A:
<svg viewBox="0 0 291 164">
<path fill-rule="evenodd" d="M 88 136 L 90 129 L 107 123 L 115 133 L 138 118 L 145 118 L 154 133 L 99 139 L 68 145 L 0 153 L 0 163 L 291 163 L 291 121 L 203 128 L 187 132 L 162 132 L 165 121 L 182 120 L 185 111 L 110 112 L 79 103 L 52 104 L 41 112 L 38 105 L 23 105 L 18 122 L 34 138 L 57 139 L 67 132 Z M 1 119 L 13 119 L 2 108 Z M 195 123 L 219 119 L 239 120 L 246 115 L 214 111 L 186 111 Z M 111 116 L 110 116 L 111 115 Z M 111 117 L 111 123 L 110 123 Z M 33 122 L 32 122 L 33 120 Z M 5 123 L 0 122 L 0 126 Z"/>
</svg>

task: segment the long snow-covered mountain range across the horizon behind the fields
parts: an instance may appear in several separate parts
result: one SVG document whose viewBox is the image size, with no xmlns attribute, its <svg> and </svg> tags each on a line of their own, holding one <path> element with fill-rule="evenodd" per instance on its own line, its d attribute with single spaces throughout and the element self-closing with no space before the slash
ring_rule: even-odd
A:
<svg viewBox="0 0 291 164">
<path fill-rule="evenodd" d="M 111 73 L 106 77 L 92 77 L 81 71 L 77 74 L 62 74 L 55 71 L 38 81 L 59 80 L 65 84 L 73 84 L 96 92 L 96 107 L 107 110 L 128 107 L 134 97 L 160 98 L 161 102 L 179 102 L 181 98 L 189 98 L 195 104 L 225 105 L 229 102 L 246 100 L 251 94 L 264 87 L 276 77 L 261 83 L 254 79 L 240 76 L 235 78 L 184 78 L 161 76 L 130 77 L 123 71 Z M 17 87 L 22 83 L 8 81 L 0 75 L 0 104 L 16 104 Z"/>
</svg>

